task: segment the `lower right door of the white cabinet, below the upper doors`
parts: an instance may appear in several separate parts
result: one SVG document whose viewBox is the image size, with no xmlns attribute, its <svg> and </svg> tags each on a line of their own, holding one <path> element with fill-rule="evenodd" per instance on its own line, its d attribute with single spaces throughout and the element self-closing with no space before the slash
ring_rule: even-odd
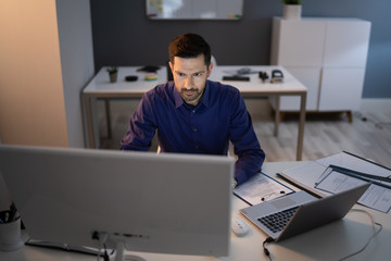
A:
<svg viewBox="0 0 391 261">
<path fill-rule="evenodd" d="M 358 110 L 361 105 L 365 69 L 324 69 L 319 111 Z"/>
</svg>

